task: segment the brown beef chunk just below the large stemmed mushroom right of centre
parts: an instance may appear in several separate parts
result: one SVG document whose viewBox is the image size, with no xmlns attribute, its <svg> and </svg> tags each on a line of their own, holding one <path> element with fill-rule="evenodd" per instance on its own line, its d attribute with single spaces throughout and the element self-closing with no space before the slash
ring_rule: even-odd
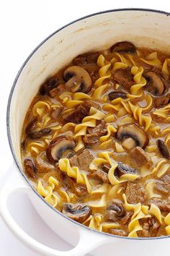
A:
<svg viewBox="0 0 170 256">
<path fill-rule="evenodd" d="M 151 161 L 146 152 L 140 147 L 136 147 L 130 151 L 130 158 L 132 158 L 133 163 L 137 167 L 141 167 Z"/>
</svg>

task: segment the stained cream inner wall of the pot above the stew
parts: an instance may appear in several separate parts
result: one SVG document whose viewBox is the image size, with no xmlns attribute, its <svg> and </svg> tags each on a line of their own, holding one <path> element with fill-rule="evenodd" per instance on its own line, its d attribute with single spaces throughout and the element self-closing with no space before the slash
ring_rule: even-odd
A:
<svg viewBox="0 0 170 256">
<path fill-rule="evenodd" d="M 169 15 L 161 12 L 109 11 L 73 22 L 41 43 L 24 63 L 12 89 L 9 131 L 19 165 L 24 116 L 42 82 L 73 57 L 86 51 L 109 48 L 120 40 L 131 41 L 135 46 L 169 51 L 169 21 Z"/>
</svg>

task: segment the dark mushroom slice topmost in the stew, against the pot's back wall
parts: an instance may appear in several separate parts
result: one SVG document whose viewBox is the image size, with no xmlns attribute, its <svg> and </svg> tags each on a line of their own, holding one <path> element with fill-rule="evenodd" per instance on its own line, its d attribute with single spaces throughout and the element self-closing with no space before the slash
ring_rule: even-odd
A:
<svg viewBox="0 0 170 256">
<path fill-rule="evenodd" d="M 135 53 L 135 46 L 133 43 L 122 41 L 115 43 L 111 48 L 110 51 L 115 52 L 129 52 L 130 54 Z"/>
</svg>

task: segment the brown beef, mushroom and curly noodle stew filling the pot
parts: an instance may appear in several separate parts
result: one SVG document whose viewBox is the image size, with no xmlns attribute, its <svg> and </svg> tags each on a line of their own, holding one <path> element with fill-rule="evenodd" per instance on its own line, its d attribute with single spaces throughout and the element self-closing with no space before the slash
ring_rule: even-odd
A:
<svg viewBox="0 0 170 256">
<path fill-rule="evenodd" d="M 42 85 L 22 159 L 46 202 L 97 231 L 170 235 L 169 75 L 168 54 L 119 42 Z"/>
</svg>

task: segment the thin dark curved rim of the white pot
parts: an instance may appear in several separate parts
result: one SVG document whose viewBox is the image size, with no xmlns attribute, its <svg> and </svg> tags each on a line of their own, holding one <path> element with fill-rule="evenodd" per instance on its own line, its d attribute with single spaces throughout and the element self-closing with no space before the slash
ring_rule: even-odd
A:
<svg viewBox="0 0 170 256">
<path fill-rule="evenodd" d="M 156 240 L 156 239 L 166 239 L 169 238 L 170 236 L 158 236 L 158 237 L 128 237 L 128 236 L 116 236 L 114 234 L 108 234 L 105 233 L 103 231 L 97 231 L 94 229 L 90 229 L 88 226 L 84 226 L 83 224 L 73 221 L 71 218 L 68 218 L 67 216 L 65 216 L 63 213 L 61 213 L 61 211 L 57 210 L 56 208 L 53 208 L 52 205 L 50 205 L 48 202 L 46 202 L 44 200 L 44 198 L 37 192 L 37 190 L 35 190 L 35 188 L 33 187 L 33 185 L 31 184 L 31 182 L 29 181 L 29 179 L 27 178 L 27 176 L 24 174 L 24 172 L 22 171 L 21 166 L 19 165 L 19 161 L 17 161 L 17 156 L 14 152 L 14 147 L 12 145 L 12 137 L 11 137 L 11 132 L 10 132 L 10 127 L 9 127 L 9 114 L 10 114 L 10 107 L 11 107 L 11 102 L 12 102 L 12 95 L 14 92 L 14 88 L 17 85 L 17 81 L 19 79 L 20 74 L 22 73 L 22 70 L 24 69 L 24 67 L 27 65 L 27 62 L 32 58 L 32 56 L 35 54 L 35 52 L 50 38 L 53 37 L 53 35 L 57 34 L 58 32 L 60 32 L 61 30 L 63 30 L 65 27 L 68 27 L 70 25 L 73 25 L 76 22 L 79 22 L 81 20 L 84 20 L 86 18 L 89 17 L 93 17 L 99 14 L 105 14 L 105 13 L 109 13 L 109 12 L 131 12 L 131 11 L 140 11 L 140 12 L 154 12 L 156 14 L 165 14 L 166 16 L 170 16 L 169 12 L 164 12 L 161 10 L 156 10 L 156 9 L 147 9 L 147 8 L 120 8 L 120 9 L 109 9 L 109 10 L 105 10 L 102 12 L 95 12 L 93 14 L 89 14 L 86 15 L 84 17 L 81 17 L 77 20 L 73 20 L 72 22 L 69 22 L 68 24 L 64 25 L 63 27 L 59 28 L 58 30 L 55 30 L 55 32 L 51 33 L 50 35 L 48 35 L 47 38 L 45 38 L 44 40 L 42 40 L 41 43 L 38 44 L 38 46 L 31 52 L 31 54 L 27 57 L 27 59 L 24 61 L 24 63 L 22 64 L 22 66 L 19 69 L 19 72 L 17 73 L 17 76 L 14 79 L 13 85 L 12 85 L 12 89 L 9 93 L 9 99 L 8 99 L 8 103 L 7 103 L 7 109 L 6 109 L 6 129 L 7 129 L 7 137 L 8 137 L 8 141 L 9 141 L 9 147 L 10 150 L 12 152 L 12 156 L 14 158 L 14 163 L 16 164 L 19 173 L 22 175 L 22 177 L 24 178 L 24 180 L 27 182 L 27 184 L 29 184 L 29 186 L 31 187 L 31 189 L 33 190 L 33 192 L 35 192 L 35 194 L 40 198 L 40 200 L 42 200 L 43 202 L 45 202 L 46 205 L 48 205 L 48 207 L 50 207 L 51 209 L 55 210 L 56 213 L 60 214 L 63 218 L 68 219 L 69 221 L 75 223 L 76 225 L 79 225 L 81 228 L 86 229 L 87 231 L 94 231 L 97 234 L 103 234 L 106 235 L 108 237 L 115 237 L 115 238 L 120 238 L 120 239 L 130 239 L 130 240 Z"/>
</svg>

